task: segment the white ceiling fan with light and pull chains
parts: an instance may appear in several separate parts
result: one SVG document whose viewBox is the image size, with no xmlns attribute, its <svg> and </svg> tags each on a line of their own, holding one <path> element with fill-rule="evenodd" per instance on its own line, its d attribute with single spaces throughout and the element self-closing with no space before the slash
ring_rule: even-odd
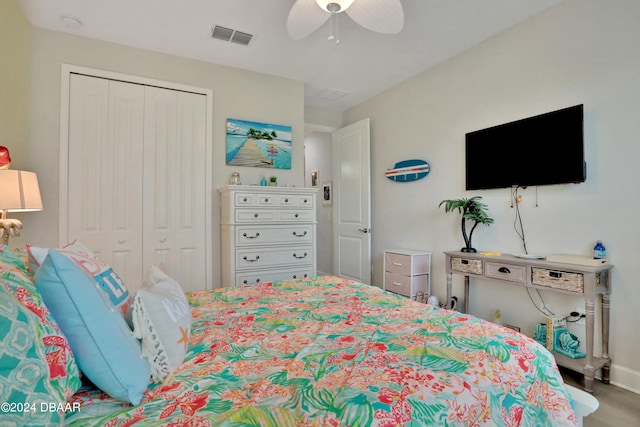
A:
<svg viewBox="0 0 640 427">
<path fill-rule="evenodd" d="M 287 31 L 292 39 L 300 40 L 342 12 L 377 33 L 396 34 L 404 26 L 400 0 L 296 0 L 287 18 Z M 336 37 L 332 28 L 329 39 Z"/>
</svg>

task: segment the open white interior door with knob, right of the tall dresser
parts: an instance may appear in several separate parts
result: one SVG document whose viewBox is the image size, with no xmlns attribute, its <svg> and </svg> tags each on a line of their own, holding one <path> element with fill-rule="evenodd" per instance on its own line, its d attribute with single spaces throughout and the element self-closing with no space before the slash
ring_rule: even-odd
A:
<svg viewBox="0 0 640 427">
<path fill-rule="evenodd" d="M 369 119 L 332 135 L 334 274 L 371 283 Z"/>
</svg>

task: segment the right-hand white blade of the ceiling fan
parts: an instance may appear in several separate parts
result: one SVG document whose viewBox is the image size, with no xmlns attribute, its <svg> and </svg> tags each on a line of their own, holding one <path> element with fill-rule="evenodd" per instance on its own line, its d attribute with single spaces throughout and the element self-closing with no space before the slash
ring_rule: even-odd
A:
<svg viewBox="0 0 640 427">
<path fill-rule="evenodd" d="M 356 0 L 347 15 L 367 30 L 396 34 L 404 27 L 404 11 L 400 0 Z"/>
</svg>

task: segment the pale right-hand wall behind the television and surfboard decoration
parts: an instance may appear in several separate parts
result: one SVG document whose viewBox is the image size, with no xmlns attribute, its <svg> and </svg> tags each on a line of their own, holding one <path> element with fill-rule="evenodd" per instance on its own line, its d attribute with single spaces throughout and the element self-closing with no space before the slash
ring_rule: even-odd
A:
<svg viewBox="0 0 640 427">
<path fill-rule="evenodd" d="M 459 217 L 438 209 L 443 199 L 481 195 L 495 223 L 479 228 L 474 246 L 523 251 L 513 229 L 508 189 L 464 190 L 466 132 L 583 103 L 587 181 L 522 192 L 530 253 L 588 255 L 597 239 L 613 270 L 612 382 L 640 392 L 640 2 L 566 0 L 431 70 L 345 112 L 345 123 L 371 118 L 374 279 L 382 283 L 388 247 L 433 252 L 433 291 L 445 295 L 443 251 L 463 246 Z M 426 41 L 437 43 L 437 41 Z M 383 172 L 396 161 L 421 158 L 431 173 L 394 183 Z M 517 161 L 517 159 L 514 159 Z M 454 283 L 457 295 L 461 281 Z M 568 313 L 579 298 L 544 292 Z M 470 311 L 532 333 L 541 321 L 521 287 L 474 281 Z M 584 310 L 582 310 L 584 311 Z"/>
</svg>

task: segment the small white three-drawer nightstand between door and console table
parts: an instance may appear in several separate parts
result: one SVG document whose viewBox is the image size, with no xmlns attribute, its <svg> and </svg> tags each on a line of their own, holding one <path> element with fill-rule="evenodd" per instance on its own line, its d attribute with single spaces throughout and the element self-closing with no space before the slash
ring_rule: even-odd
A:
<svg viewBox="0 0 640 427">
<path fill-rule="evenodd" d="M 418 292 L 431 293 L 431 253 L 413 249 L 384 251 L 382 289 L 415 298 Z"/>
</svg>

